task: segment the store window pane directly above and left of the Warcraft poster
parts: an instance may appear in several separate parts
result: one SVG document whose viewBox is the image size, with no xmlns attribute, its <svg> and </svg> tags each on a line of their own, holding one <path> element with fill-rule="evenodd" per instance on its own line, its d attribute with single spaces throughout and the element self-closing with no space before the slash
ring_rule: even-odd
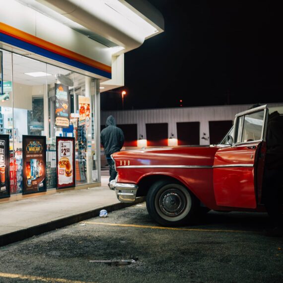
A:
<svg viewBox="0 0 283 283">
<path fill-rule="evenodd" d="M 13 149 L 14 169 L 12 177 L 17 182 L 17 193 L 23 189 L 22 136 L 45 136 L 44 120 L 47 119 L 46 64 L 22 55 L 12 54 L 13 65 Z M 11 145 L 11 143 L 10 143 Z M 10 166 L 11 169 L 11 166 Z M 11 184 L 11 192 L 12 184 Z"/>
</svg>

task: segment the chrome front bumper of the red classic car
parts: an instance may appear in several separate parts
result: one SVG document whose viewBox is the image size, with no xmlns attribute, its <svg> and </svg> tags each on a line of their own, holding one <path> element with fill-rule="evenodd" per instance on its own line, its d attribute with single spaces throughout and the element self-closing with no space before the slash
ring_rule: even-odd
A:
<svg viewBox="0 0 283 283">
<path fill-rule="evenodd" d="M 112 180 L 110 189 L 116 192 L 117 199 L 122 203 L 133 203 L 136 201 L 136 194 L 139 187 L 135 184 L 117 183 Z"/>
</svg>

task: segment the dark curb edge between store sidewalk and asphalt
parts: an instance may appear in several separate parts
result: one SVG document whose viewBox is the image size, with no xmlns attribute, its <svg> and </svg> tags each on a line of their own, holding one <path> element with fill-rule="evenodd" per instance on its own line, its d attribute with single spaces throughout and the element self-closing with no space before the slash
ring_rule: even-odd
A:
<svg viewBox="0 0 283 283">
<path fill-rule="evenodd" d="M 67 216 L 62 219 L 54 220 L 51 222 L 43 223 L 37 226 L 32 226 L 29 228 L 21 229 L 15 232 L 11 232 L 8 234 L 4 234 L 0 236 L 0 247 L 5 246 L 17 241 L 21 241 L 27 238 L 30 238 L 35 235 L 39 235 L 45 232 L 49 232 L 58 228 L 62 228 L 64 226 L 68 226 L 74 223 L 77 223 L 82 220 L 86 220 L 92 217 L 99 216 L 99 212 L 101 210 L 107 210 L 107 212 L 113 212 L 120 209 L 128 208 L 134 206 L 136 204 L 142 203 L 145 201 L 144 197 L 137 198 L 134 203 L 117 203 L 114 205 L 109 205 L 106 207 L 101 207 L 92 211 L 82 212 L 79 214 Z"/>
</svg>

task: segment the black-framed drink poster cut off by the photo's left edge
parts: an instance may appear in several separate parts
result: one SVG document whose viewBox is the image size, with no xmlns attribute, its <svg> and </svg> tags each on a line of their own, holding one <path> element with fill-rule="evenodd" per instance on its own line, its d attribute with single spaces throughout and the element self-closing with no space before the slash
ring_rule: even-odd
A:
<svg viewBox="0 0 283 283">
<path fill-rule="evenodd" d="M 9 135 L 0 135 L 0 199 L 9 196 Z"/>
</svg>

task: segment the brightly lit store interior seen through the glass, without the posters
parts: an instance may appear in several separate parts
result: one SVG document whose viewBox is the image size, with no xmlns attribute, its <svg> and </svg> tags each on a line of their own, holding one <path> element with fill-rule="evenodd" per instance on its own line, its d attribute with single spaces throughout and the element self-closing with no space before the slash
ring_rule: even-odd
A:
<svg viewBox="0 0 283 283">
<path fill-rule="evenodd" d="M 95 79 L 28 57 L 2 52 L 3 93 L 0 134 L 9 135 L 10 192 L 22 192 L 22 136 L 46 136 L 47 189 L 56 188 L 56 136 L 75 138 L 76 185 L 98 182 L 94 105 Z M 68 86 L 70 125 L 56 125 L 56 84 Z M 88 97 L 90 121 L 79 118 L 80 101 Z"/>
</svg>

